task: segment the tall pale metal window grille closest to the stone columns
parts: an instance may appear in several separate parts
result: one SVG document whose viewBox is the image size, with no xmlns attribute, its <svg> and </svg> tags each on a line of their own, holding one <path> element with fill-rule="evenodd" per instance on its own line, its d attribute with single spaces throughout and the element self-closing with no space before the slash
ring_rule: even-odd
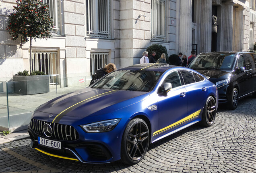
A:
<svg viewBox="0 0 256 173">
<path fill-rule="evenodd" d="M 151 39 L 165 41 L 165 0 L 152 0 Z"/>
</svg>

